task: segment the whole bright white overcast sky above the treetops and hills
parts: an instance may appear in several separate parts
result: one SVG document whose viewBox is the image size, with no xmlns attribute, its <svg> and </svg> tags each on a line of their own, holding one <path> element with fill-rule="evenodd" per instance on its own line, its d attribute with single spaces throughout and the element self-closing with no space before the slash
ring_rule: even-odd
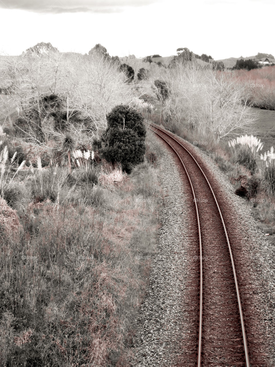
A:
<svg viewBox="0 0 275 367">
<path fill-rule="evenodd" d="M 274 14 L 274 0 L 0 0 L 0 51 L 43 41 L 83 54 L 101 43 L 118 56 L 274 55 Z"/>
</svg>

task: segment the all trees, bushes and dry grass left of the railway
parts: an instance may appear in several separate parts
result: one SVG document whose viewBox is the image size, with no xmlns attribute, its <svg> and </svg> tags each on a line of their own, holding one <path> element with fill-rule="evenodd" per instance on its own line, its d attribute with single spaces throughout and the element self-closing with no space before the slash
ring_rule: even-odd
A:
<svg viewBox="0 0 275 367">
<path fill-rule="evenodd" d="M 131 360 L 161 188 L 120 65 L 51 44 L 1 63 L 1 366 Z"/>
</svg>

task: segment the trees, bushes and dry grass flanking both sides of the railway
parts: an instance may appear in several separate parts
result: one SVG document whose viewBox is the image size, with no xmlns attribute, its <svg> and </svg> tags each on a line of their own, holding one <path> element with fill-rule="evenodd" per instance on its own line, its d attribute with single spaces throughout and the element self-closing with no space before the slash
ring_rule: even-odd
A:
<svg viewBox="0 0 275 367">
<path fill-rule="evenodd" d="M 41 43 L 1 63 L 1 365 L 128 366 L 161 204 L 146 122 L 205 150 L 275 232 L 275 153 L 250 108 L 271 109 L 272 68 L 100 44 Z"/>
</svg>

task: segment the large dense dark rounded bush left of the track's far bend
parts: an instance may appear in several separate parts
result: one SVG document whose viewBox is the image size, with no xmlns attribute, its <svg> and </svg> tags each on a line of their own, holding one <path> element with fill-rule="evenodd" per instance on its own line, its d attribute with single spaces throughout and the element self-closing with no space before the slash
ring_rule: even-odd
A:
<svg viewBox="0 0 275 367">
<path fill-rule="evenodd" d="M 119 105 L 107 115 L 107 145 L 101 150 L 109 162 L 120 162 L 122 169 L 130 172 L 145 154 L 146 129 L 142 115 L 129 106 Z"/>
</svg>

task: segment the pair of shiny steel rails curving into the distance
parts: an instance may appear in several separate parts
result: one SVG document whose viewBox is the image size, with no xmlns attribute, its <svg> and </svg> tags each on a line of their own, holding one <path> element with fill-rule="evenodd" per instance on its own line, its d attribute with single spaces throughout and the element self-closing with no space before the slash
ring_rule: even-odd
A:
<svg viewBox="0 0 275 367">
<path fill-rule="evenodd" d="M 226 230 L 226 227 L 225 227 L 223 215 L 221 214 L 220 206 L 218 204 L 218 201 L 217 201 L 217 198 L 216 198 L 216 196 L 214 194 L 214 191 L 212 189 L 212 186 L 210 185 L 210 182 L 208 181 L 208 178 L 206 177 L 205 173 L 203 172 L 201 166 L 199 165 L 199 163 L 197 162 L 197 160 L 195 159 L 195 157 L 192 155 L 192 153 L 189 152 L 189 150 L 187 148 L 185 148 L 185 146 L 183 146 L 177 139 L 175 139 L 172 135 L 170 135 L 165 130 L 162 130 L 161 128 L 159 128 L 159 127 L 157 127 L 157 126 L 155 126 L 153 124 L 150 124 L 150 123 L 148 123 L 148 124 L 151 125 L 152 127 L 154 127 L 155 129 L 157 129 L 157 130 L 159 130 L 161 132 L 164 132 L 164 134 L 166 134 L 167 136 L 169 136 L 170 138 L 172 138 L 173 141 L 175 141 L 184 150 L 186 150 L 186 152 L 192 157 L 192 159 L 194 160 L 194 162 L 197 164 L 198 168 L 201 170 L 201 172 L 202 172 L 204 178 L 206 179 L 206 182 L 208 183 L 208 186 L 209 186 L 209 188 L 210 188 L 210 190 L 212 192 L 212 195 L 213 195 L 214 200 L 216 202 L 217 208 L 219 210 L 219 214 L 220 214 L 220 217 L 221 217 L 221 222 L 223 224 L 224 233 L 225 233 L 225 236 L 226 236 L 226 239 L 227 239 L 228 249 L 229 249 L 229 253 L 230 253 L 232 270 L 233 270 L 233 274 L 234 274 L 236 295 L 237 295 L 237 299 L 238 299 L 238 309 L 239 309 L 240 321 L 241 321 L 241 327 L 242 327 L 243 348 L 244 348 L 244 351 L 245 351 L 245 367 L 250 367 L 249 355 L 248 355 L 248 347 L 247 347 L 247 338 L 246 338 L 246 332 L 245 332 L 245 324 L 244 324 L 244 320 L 243 320 L 241 298 L 240 298 L 240 294 L 239 294 L 239 286 L 238 286 L 238 280 L 237 280 L 237 276 L 236 276 L 236 269 L 235 269 L 233 254 L 232 254 L 232 250 L 231 250 L 231 246 L 230 246 L 230 242 L 229 242 L 227 230 Z M 151 130 L 154 131 L 153 129 L 151 129 Z M 159 137 L 161 137 L 170 146 L 170 148 L 172 148 L 174 150 L 174 152 L 176 153 L 176 155 L 179 157 L 181 163 L 183 164 L 183 161 L 181 160 L 179 154 L 172 147 L 172 145 L 164 137 L 162 137 L 160 134 L 158 134 L 158 132 L 156 132 L 156 131 L 154 131 L 154 132 Z M 184 164 L 183 164 L 183 167 L 184 167 L 184 171 L 187 174 L 188 181 L 189 181 L 189 183 L 191 185 L 191 188 L 192 188 L 193 197 L 194 197 L 194 201 L 195 201 L 195 207 L 196 207 L 196 213 L 197 213 L 197 220 L 198 220 L 198 224 L 199 224 L 198 207 L 197 207 L 197 201 L 195 200 L 194 188 L 192 186 L 192 182 L 191 182 L 190 176 L 188 175 L 188 172 L 187 172 L 186 167 L 184 166 Z M 202 344 L 201 344 L 201 342 L 202 342 L 202 248 L 201 248 L 201 233 L 200 233 L 200 229 L 199 229 L 199 237 L 200 237 L 200 260 L 201 261 L 200 261 L 200 299 L 199 299 L 199 307 L 200 307 L 200 310 L 199 310 L 199 337 L 198 337 L 197 367 L 201 367 L 201 352 L 202 352 Z"/>
</svg>

